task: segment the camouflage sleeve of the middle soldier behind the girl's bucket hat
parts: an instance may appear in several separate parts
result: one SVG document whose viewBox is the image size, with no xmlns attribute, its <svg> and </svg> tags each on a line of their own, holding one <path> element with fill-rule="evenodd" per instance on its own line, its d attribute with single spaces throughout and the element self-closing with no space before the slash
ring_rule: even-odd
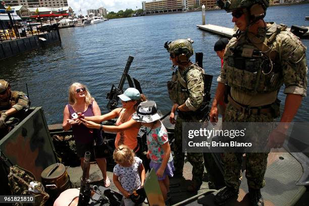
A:
<svg viewBox="0 0 309 206">
<path fill-rule="evenodd" d="M 185 101 L 186 106 L 192 110 L 197 110 L 203 101 L 204 81 L 199 69 L 191 69 L 187 73 L 187 86 L 189 97 Z"/>
</svg>

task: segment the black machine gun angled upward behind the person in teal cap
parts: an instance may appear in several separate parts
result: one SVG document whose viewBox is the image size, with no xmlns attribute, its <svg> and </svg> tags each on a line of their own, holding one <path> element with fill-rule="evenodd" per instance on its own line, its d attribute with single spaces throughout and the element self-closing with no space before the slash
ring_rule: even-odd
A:
<svg viewBox="0 0 309 206">
<path fill-rule="evenodd" d="M 134 59 L 134 57 L 129 56 L 126 67 L 125 67 L 124 72 L 121 76 L 121 80 L 119 82 L 118 88 L 116 88 L 116 86 L 113 84 L 110 93 L 107 94 L 106 98 L 109 101 L 108 105 L 107 105 L 107 109 L 109 111 L 112 111 L 115 108 L 117 108 L 118 95 L 121 94 L 121 92 L 122 92 L 122 88 L 123 88 L 123 85 L 126 81 L 126 77 L 127 77 L 128 72 L 129 72 L 131 63 L 133 62 L 133 59 Z"/>
</svg>

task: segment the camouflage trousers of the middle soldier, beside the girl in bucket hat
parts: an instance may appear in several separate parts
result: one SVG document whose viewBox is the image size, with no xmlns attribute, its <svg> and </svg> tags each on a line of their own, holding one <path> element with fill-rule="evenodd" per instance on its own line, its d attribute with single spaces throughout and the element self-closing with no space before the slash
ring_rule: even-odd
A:
<svg viewBox="0 0 309 206">
<path fill-rule="evenodd" d="M 174 167 L 176 173 L 182 173 L 185 154 L 182 152 L 182 123 L 195 122 L 192 119 L 182 119 L 179 116 L 175 124 L 174 141 Z M 187 158 L 192 168 L 192 181 L 201 183 L 204 172 L 203 153 L 187 152 Z"/>
</svg>

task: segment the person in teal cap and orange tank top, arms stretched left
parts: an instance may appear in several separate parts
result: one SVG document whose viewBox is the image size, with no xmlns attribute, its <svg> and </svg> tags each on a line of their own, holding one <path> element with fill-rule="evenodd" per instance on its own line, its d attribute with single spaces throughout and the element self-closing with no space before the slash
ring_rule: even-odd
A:
<svg viewBox="0 0 309 206">
<path fill-rule="evenodd" d="M 140 94 L 137 89 L 131 87 L 118 96 L 121 99 L 122 108 L 117 108 L 101 116 L 85 117 L 85 119 L 81 119 L 81 121 L 88 128 L 117 132 L 115 147 L 118 148 L 118 146 L 124 144 L 130 149 L 133 149 L 134 152 L 137 152 L 139 150 L 139 145 L 136 137 L 141 124 L 132 120 L 132 115 L 136 112 L 138 104 L 145 101 L 146 97 Z M 97 124 L 116 117 L 118 117 L 116 126 Z"/>
</svg>

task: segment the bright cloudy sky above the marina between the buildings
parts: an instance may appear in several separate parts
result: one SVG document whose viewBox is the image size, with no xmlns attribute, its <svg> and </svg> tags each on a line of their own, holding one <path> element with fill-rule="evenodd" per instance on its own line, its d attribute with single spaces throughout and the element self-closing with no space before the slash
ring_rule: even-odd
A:
<svg viewBox="0 0 309 206">
<path fill-rule="evenodd" d="M 142 9 L 142 1 L 145 0 L 68 0 L 68 5 L 76 14 L 79 14 L 81 9 L 84 15 L 87 14 L 88 9 L 98 9 L 104 7 L 108 12 L 118 12 L 126 9 Z M 146 0 L 149 2 L 151 0 Z M 137 8 L 136 8 L 137 7 Z"/>
</svg>

